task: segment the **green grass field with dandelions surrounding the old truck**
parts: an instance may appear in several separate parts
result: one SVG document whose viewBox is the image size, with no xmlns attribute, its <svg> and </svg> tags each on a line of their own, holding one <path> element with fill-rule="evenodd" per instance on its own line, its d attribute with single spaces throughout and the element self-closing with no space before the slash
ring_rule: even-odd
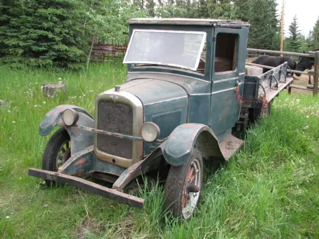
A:
<svg viewBox="0 0 319 239">
<path fill-rule="evenodd" d="M 121 84 L 126 66 L 89 72 L 0 67 L 0 238 L 319 238 L 319 97 L 281 93 L 269 118 L 249 130 L 241 150 L 213 170 L 206 162 L 199 209 L 186 222 L 164 212 L 163 189 L 143 189 L 145 210 L 66 186 L 43 189 L 27 176 L 41 168 L 49 136 L 38 125 L 60 104 L 93 114 L 98 93 Z M 61 78 L 61 79 L 60 79 Z M 46 99 L 44 82 L 64 81 L 67 95 Z"/>
</svg>

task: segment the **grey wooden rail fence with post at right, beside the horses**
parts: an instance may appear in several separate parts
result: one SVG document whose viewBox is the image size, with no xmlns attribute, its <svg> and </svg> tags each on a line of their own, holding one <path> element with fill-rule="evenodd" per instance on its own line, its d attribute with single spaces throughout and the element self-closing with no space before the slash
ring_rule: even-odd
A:
<svg viewBox="0 0 319 239">
<path fill-rule="evenodd" d="M 259 54 L 258 54 L 259 53 Z M 260 54 L 262 53 L 262 54 Z M 319 77 L 319 51 L 310 51 L 308 53 L 297 53 L 297 52 L 289 52 L 289 51 L 272 51 L 272 50 L 263 50 L 263 49 L 254 49 L 254 48 L 247 48 L 247 57 L 248 58 L 254 58 L 259 55 L 263 54 L 269 54 L 269 55 L 287 55 L 292 57 L 292 59 L 296 59 L 298 61 L 298 57 L 300 56 L 305 56 L 305 57 L 310 57 L 310 58 L 315 58 L 315 69 L 314 70 L 308 70 L 307 72 L 303 71 L 295 71 L 292 70 L 294 73 L 300 73 L 303 75 L 309 75 L 314 77 L 314 86 L 298 86 L 298 85 L 290 85 L 288 88 L 288 92 L 291 93 L 291 88 L 296 88 L 300 90 L 306 90 L 306 91 L 312 91 L 313 95 L 318 94 L 318 77 Z M 251 65 L 251 66 L 258 66 L 266 69 L 273 69 L 274 67 L 271 66 L 264 66 L 264 65 L 259 65 L 259 64 L 254 64 L 250 62 L 246 62 L 246 65 Z"/>
</svg>

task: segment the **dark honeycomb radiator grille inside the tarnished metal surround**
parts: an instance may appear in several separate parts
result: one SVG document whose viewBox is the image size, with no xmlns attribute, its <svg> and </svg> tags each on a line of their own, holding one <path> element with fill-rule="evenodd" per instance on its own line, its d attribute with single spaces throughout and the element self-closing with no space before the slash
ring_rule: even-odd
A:
<svg viewBox="0 0 319 239">
<path fill-rule="evenodd" d="M 100 101 L 98 104 L 98 129 L 133 135 L 133 110 L 132 107 L 113 101 Z M 133 141 L 110 135 L 97 135 L 97 148 L 100 151 L 132 158 Z"/>
</svg>

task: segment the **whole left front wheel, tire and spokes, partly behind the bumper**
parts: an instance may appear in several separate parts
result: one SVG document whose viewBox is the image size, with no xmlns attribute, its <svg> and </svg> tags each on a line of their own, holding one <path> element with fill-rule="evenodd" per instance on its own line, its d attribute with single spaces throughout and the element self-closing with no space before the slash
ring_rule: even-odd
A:
<svg viewBox="0 0 319 239">
<path fill-rule="evenodd" d="M 42 159 L 42 169 L 58 171 L 58 169 L 71 157 L 70 136 L 65 128 L 59 128 L 48 141 Z M 47 186 L 56 186 L 56 182 L 45 180 Z"/>
</svg>

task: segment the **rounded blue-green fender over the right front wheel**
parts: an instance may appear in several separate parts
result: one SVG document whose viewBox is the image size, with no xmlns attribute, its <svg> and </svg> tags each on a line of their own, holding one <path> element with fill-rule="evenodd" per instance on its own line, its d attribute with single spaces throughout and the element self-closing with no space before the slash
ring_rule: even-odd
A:
<svg viewBox="0 0 319 239">
<path fill-rule="evenodd" d="M 170 165 L 182 165 L 191 157 L 195 144 L 205 158 L 224 158 L 214 132 L 208 126 L 199 123 L 177 126 L 161 145 L 163 156 Z"/>
</svg>

